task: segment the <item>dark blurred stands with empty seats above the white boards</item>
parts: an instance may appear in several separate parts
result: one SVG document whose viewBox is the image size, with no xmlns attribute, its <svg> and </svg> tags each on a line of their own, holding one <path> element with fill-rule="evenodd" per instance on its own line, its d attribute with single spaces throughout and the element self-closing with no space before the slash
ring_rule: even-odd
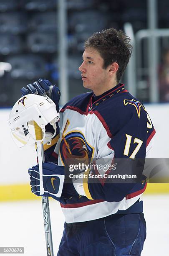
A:
<svg viewBox="0 0 169 256">
<path fill-rule="evenodd" d="M 111 27 L 134 45 L 122 79 L 131 94 L 169 102 L 168 12 L 167 0 L 0 0 L 0 107 L 13 106 L 20 88 L 39 77 L 61 88 L 61 105 L 86 92 L 83 43 Z"/>
</svg>

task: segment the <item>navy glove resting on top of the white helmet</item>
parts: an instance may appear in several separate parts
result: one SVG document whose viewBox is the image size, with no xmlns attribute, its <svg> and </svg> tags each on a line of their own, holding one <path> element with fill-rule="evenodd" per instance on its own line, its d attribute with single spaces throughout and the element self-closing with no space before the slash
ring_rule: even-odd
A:
<svg viewBox="0 0 169 256">
<path fill-rule="evenodd" d="M 38 82 L 33 82 L 33 84 L 28 84 L 21 90 L 22 96 L 27 94 L 38 94 L 41 96 L 47 95 L 56 105 L 56 110 L 59 112 L 59 100 L 61 97 L 61 92 L 58 87 L 52 85 L 49 80 L 40 78 Z"/>
</svg>

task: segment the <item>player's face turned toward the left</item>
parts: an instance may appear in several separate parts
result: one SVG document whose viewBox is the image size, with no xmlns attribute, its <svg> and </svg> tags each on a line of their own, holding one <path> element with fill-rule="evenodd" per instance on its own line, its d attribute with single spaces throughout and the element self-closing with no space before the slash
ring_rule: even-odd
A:
<svg viewBox="0 0 169 256">
<path fill-rule="evenodd" d="M 83 86 L 93 90 L 95 95 L 101 95 L 108 82 L 108 68 L 103 69 L 104 61 L 94 48 L 86 48 L 83 52 L 83 63 L 79 67 Z"/>
</svg>

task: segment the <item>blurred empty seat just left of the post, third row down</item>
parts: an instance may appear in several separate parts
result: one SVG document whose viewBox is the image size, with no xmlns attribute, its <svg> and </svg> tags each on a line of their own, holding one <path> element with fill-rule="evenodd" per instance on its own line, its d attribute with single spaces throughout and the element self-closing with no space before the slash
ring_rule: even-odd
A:
<svg viewBox="0 0 169 256">
<path fill-rule="evenodd" d="M 27 46 L 32 52 L 54 53 L 58 48 L 56 33 L 31 33 L 27 37 Z"/>
</svg>

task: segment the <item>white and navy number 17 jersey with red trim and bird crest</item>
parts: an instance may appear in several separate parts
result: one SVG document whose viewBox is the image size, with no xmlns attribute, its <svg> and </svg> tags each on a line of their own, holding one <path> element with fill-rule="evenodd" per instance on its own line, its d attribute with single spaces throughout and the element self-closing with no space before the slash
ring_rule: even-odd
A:
<svg viewBox="0 0 169 256">
<path fill-rule="evenodd" d="M 84 93 L 60 111 L 60 138 L 53 152 L 58 165 L 67 166 L 92 159 L 145 159 L 155 134 L 144 105 L 129 94 L 124 84 L 96 97 Z M 92 171 L 93 172 L 93 171 Z M 99 174 L 99 170 L 95 173 Z M 74 184 L 76 194 L 61 204 L 67 223 L 103 218 L 118 212 L 142 212 L 140 196 L 146 182 L 91 183 L 87 177 Z M 129 211 L 127 211 L 129 209 Z"/>
</svg>

